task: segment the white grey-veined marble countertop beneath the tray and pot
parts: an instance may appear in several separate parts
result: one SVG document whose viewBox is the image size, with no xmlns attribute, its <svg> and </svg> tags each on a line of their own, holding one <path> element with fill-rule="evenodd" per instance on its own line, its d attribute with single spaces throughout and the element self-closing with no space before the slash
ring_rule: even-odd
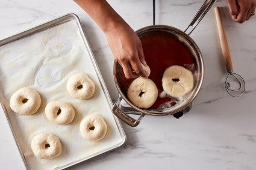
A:
<svg viewBox="0 0 256 170">
<path fill-rule="evenodd" d="M 152 24 L 152 1 L 110 0 L 136 30 Z M 156 23 L 184 30 L 201 7 L 199 0 L 156 1 Z M 226 7 L 225 1 L 214 6 Z M 0 1 L 0 39 L 66 13 L 77 14 L 89 38 L 110 96 L 117 98 L 113 56 L 96 24 L 73 1 Z M 137 127 L 123 124 L 126 144 L 70 169 L 256 169 L 256 16 L 239 24 L 223 14 L 234 71 L 246 82 L 242 97 L 230 97 L 213 8 L 191 37 L 205 62 L 202 90 L 192 110 L 176 120 L 145 116 Z M 1 69 L 1 68 L 0 68 Z M 3 112 L 0 112 L 0 169 L 25 169 Z"/>
</svg>

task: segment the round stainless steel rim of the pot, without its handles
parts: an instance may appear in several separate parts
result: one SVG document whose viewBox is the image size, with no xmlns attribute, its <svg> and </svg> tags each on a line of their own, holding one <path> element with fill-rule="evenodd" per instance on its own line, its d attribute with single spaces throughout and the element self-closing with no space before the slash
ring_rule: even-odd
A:
<svg viewBox="0 0 256 170">
<path fill-rule="evenodd" d="M 200 73 L 199 76 L 199 80 L 198 80 L 198 85 L 196 87 L 196 89 L 193 92 L 193 96 L 189 97 L 189 99 L 187 100 L 186 104 L 182 105 L 182 106 L 178 106 L 175 109 L 173 109 L 172 111 L 166 110 L 166 111 L 150 111 L 149 109 L 141 109 L 135 105 L 133 105 L 133 103 L 130 102 L 130 100 L 126 99 L 125 94 L 122 93 L 122 90 L 120 89 L 118 83 L 117 83 L 117 77 L 116 77 L 116 65 L 117 65 L 117 61 L 116 59 L 114 60 L 114 69 L 113 69 L 113 76 L 114 76 L 114 83 L 116 85 L 116 88 L 120 94 L 120 96 L 122 96 L 122 99 L 125 100 L 126 103 L 128 103 L 128 105 L 130 105 L 133 109 L 135 109 L 138 112 L 142 112 L 142 114 L 145 115 L 158 115 L 158 116 L 162 116 L 162 115 L 170 115 L 170 114 L 175 114 L 177 112 L 183 111 L 183 109 L 187 108 L 187 106 L 189 106 L 193 100 L 195 100 L 196 96 L 198 96 L 199 91 L 201 90 L 202 87 L 202 82 L 204 81 L 204 60 L 202 58 L 202 53 L 201 50 L 199 49 L 198 45 L 195 43 L 195 41 L 188 35 L 186 34 L 184 31 L 181 31 L 178 28 L 175 28 L 173 26 L 168 26 L 168 25 L 151 25 L 151 26 L 145 26 L 143 28 L 138 29 L 136 32 L 137 35 L 142 34 L 142 32 L 146 32 L 146 31 L 151 31 L 151 30 L 155 30 L 155 29 L 162 29 L 163 31 L 172 31 L 175 34 L 180 34 L 182 35 L 186 40 L 187 43 L 189 43 L 193 49 L 195 49 L 196 51 L 196 57 L 198 58 L 198 70 Z"/>
</svg>

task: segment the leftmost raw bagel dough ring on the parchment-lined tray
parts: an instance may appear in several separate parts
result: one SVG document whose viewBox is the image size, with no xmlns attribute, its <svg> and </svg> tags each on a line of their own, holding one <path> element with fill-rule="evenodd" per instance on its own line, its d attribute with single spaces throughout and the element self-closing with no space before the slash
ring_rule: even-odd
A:
<svg viewBox="0 0 256 170">
<path fill-rule="evenodd" d="M 30 87 L 23 87 L 11 95 L 11 110 L 20 115 L 32 115 L 41 105 L 39 93 Z"/>
</svg>

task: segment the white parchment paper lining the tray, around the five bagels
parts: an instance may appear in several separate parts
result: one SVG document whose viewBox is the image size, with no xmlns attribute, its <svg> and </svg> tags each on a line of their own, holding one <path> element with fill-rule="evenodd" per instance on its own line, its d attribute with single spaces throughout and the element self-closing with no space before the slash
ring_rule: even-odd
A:
<svg viewBox="0 0 256 170">
<path fill-rule="evenodd" d="M 88 100 L 73 99 L 66 90 L 67 79 L 80 72 L 96 85 L 94 96 Z M 34 115 L 18 115 L 10 109 L 11 95 L 22 87 L 35 88 L 42 98 Z M 0 91 L 29 169 L 58 169 L 102 153 L 123 140 L 75 20 L 0 47 Z M 73 106 L 72 123 L 57 125 L 46 118 L 45 106 L 52 100 Z M 86 115 L 95 113 L 106 121 L 107 135 L 101 141 L 89 142 L 80 135 L 79 124 Z M 60 156 L 51 160 L 34 156 L 30 144 L 40 132 L 54 133 L 60 139 Z"/>
</svg>

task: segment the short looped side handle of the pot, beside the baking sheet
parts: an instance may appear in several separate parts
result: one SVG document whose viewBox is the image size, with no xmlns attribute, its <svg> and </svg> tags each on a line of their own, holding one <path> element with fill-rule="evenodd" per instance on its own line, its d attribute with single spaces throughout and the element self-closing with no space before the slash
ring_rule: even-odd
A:
<svg viewBox="0 0 256 170">
<path fill-rule="evenodd" d="M 122 100 L 122 97 L 119 97 L 117 99 L 116 103 L 114 103 L 114 106 L 112 108 L 114 115 L 116 115 L 118 118 L 120 118 L 120 120 L 122 120 L 124 123 L 128 124 L 131 127 L 138 126 L 140 124 L 140 121 L 142 120 L 142 118 L 145 116 L 145 114 L 141 114 L 138 120 L 130 117 L 129 115 L 125 114 L 125 112 L 123 112 L 119 108 L 119 104 L 120 104 L 121 100 Z"/>
</svg>

